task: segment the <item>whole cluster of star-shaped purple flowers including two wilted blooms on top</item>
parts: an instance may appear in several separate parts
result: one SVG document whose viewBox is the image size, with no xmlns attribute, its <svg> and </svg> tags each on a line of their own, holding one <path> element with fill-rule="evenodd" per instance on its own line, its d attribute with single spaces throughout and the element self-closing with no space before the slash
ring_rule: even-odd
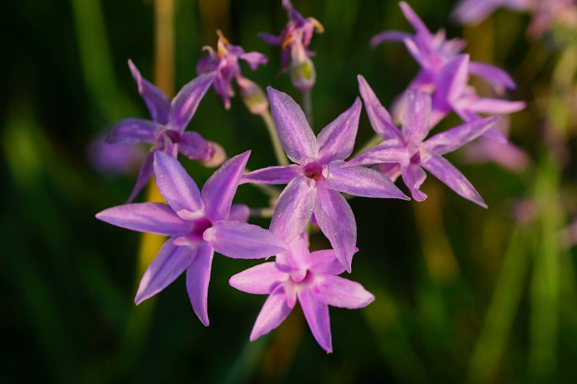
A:
<svg viewBox="0 0 577 384">
<path fill-rule="evenodd" d="M 290 1 L 283 0 L 282 4 L 289 15 L 286 28 L 280 36 L 261 36 L 282 47 L 283 69 L 288 66 L 290 55 L 295 87 L 310 89 L 316 74 L 308 45 L 313 31 L 322 32 L 322 26 L 313 18 L 303 18 Z M 365 78 L 358 76 L 365 111 L 382 142 L 349 161 L 362 110 L 361 98 L 357 97 L 349 109 L 314 135 L 293 98 L 269 86 L 267 100 L 260 86 L 242 76 L 239 59 L 254 70 L 267 58 L 230 44 L 222 33 L 218 50 L 204 48 L 208 56 L 198 61 L 198 77 L 172 101 L 141 77 L 129 61 L 152 120 L 121 120 L 111 130 L 108 141 L 150 143 L 152 149 L 138 173 L 128 204 L 108 208 L 96 218 L 126 229 L 170 237 L 144 273 L 134 299 L 136 304 L 162 291 L 186 271 L 186 289 L 193 310 L 208 325 L 207 294 L 214 252 L 233 258 L 275 256 L 275 261 L 246 269 L 230 279 L 230 285 L 238 290 L 269 295 L 250 340 L 276 328 L 298 301 L 314 338 L 331 352 L 328 306 L 355 309 L 374 300 L 361 284 L 337 276 L 351 272 L 353 255 L 358 252 L 355 217 L 342 193 L 410 200 L 394 184 L 402 176 L 413 199 L 422 201 L 426 195 L 420 187 L 427 170 L 460 196 L 486 207 L 473 185 L 443 155 L 480 136 L 507 142 L 494 129 L 499 116 L 479 114 L 501 115 L 518 111 L 524 104 L 479 97 L 468 85 L 470 74 L 501 88 L 514 88 L 515 84 L 504 71 L 470 62 L 468 55 L 460 54 L 462 40 L 445 40 L 442 31 L 433 35 L 406 3 L 400 3 L 400 7 L 415 34 L 384 32 L 374 37 L 372 44 L 402 41 L 421 70 L 396 102 L 394 110 L 400 129 Z M 233 79 L 250 112 L 272 116 L 275 139 L 294 164 L 245 172 L 250 151 L 224 161 L 226 155 L 219 145 L 186 131 L 211 86 L 222 97 L 224 107 L 230 107 Z M 428 137 L 429 131 L 451 112 L 462 117 L 463 124 Z M 200 190 L 178 161 L 178 153 L 205 165 L 222 165 Z M 130 203 L 152 174 L 166 204 Z M 249 208 L 233 204 L 237 188 L 245 183 L 286 184 L 275 200 L 268 230 L 247 223 Z M 309 252 L 308 228 L 312 223 L 319 226 L 332 249 Z"/>
</svg>

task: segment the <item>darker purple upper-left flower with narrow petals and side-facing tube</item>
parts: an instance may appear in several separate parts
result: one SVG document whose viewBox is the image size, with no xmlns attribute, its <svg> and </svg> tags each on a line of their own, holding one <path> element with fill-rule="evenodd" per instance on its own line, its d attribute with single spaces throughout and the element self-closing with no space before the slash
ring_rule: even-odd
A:
<svg viewBox="0 0 577 384">
<path fill-rule="evenodd" d="M 222 147 L 205 140 L 197 132 L 185 132 L 198 103 L 211 86 L 215 73 L 193 79 L 182 87 L 171 102 L 160 89 L 140 75 L 132 60 L 128 60 L 128 66 L 138 86 L 138 93 L 143 97 L 152 117 L 152 121 L 137 117 L 118 121 L 108 134 L 107 140 L 110 143 L 152 144 L 128 198 L 127 202 L 130 203 L 151 177 L 152 161 L 157 151 L 163 151 L 174 158 L 180 152 L 189 159 L 212 163 L 212 166 L 222 164 L 225 155 Z"/>
</svg>

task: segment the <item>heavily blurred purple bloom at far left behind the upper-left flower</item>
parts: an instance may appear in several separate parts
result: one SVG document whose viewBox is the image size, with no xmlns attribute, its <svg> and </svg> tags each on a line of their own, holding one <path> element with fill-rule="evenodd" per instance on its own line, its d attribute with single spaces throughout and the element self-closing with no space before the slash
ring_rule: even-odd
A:
<svg viewBox="0 0 577 384">
<path fill-rule="evenodd" d="M 88 145 L 87 155 L 92 166 L 110 175 L 135 172 L 146 155 L 143 149 L 128 143 L 108 143 L 106 136 L 100 134 Z"/>
</svg>

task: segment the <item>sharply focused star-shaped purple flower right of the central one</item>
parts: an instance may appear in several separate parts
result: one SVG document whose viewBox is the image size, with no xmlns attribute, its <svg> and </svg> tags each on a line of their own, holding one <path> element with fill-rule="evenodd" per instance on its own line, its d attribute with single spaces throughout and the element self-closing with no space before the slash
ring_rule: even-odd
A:
<svg viewBox="0 0 577 384">
<path fill-rule="evenodd" d="M 351 159 L 342 169 L 349 166 L 385 164 L 381 172 L 393 179 L 401 175 L 413 199 L 423 201 L 427 196 L 419 191 L 419 187 L 426 178 L 423 170 L 425 168 L 460 196 L 481 207 L 487 207 L 469 180 L 443 155 L 481 136 L 499 117 L 473 120 L 425 140 L 429 134 L 431 115 L 431 98 L 428 94 L 407 90 L 402 129 L 399 130 L 365 78 L 359 75 L 358 80 L 370 123 L 384 141 Z"/>
</svg>

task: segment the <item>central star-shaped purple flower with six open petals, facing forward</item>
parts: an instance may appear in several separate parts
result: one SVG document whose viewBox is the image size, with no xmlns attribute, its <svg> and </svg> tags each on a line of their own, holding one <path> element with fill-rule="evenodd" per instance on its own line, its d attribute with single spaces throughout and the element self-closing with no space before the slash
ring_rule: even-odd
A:
<svg viewBox="0 0 577 384">
<path fill-rule="evenodd" d="M 305 230 L 310 216 L 335 249 L 336 257 L 351 271 L 357 243 L 357 225 L 349 203 L 339 192 L 366 197 L 409 200 L 383 174 L 361 166 L 340 168 L 353 152 L 361 101 L 315 137 L 305 114 L 286 93 L 267 88 L 272 119 L 280 143 L 292 165 L 271 166 L 243 174 L 241 183 L 288 184 L 280 194 L 270 230 L 290 243 Z"/>
</svg>

